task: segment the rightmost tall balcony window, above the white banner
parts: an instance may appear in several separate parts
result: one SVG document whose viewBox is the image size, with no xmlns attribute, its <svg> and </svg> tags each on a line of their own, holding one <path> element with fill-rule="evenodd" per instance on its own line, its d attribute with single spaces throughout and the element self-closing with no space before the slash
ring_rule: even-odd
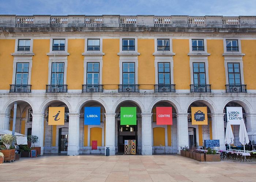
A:
<svg viewBox="0 0 256 182">
<path fill-rule="evenodd" d="M 240 75 L 240 64 L 239 63 L 227 63 L 229 84 L 230 85 L 240 85 L 241 75 Z"/>
</svg>

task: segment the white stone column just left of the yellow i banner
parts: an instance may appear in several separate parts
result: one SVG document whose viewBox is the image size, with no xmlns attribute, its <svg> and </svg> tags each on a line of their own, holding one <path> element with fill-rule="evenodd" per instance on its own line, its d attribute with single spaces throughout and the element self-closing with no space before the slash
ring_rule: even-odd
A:
<svg viewBox="0 0 256 182">
<path fill-rule="evenodd" d="M 36 135 L 38 137 L 38 143 L 35 143 L 35 147 L 41 147 L 41 155 L 43 155 L 45 115 L 42 113 L 33 113 L 32 117 L 32 135 Z"/>
</svg>

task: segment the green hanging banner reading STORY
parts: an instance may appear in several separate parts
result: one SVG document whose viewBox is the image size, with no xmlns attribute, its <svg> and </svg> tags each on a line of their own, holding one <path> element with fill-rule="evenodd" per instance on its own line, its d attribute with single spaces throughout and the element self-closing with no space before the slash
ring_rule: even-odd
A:
<svg viewBox="0 0 256 182">
<path fill-rule="evenodd" d="M 121 107 L 121 125 L 136 125 L 137 124 L 137 108 L 136 107 Z"/>
</svg>

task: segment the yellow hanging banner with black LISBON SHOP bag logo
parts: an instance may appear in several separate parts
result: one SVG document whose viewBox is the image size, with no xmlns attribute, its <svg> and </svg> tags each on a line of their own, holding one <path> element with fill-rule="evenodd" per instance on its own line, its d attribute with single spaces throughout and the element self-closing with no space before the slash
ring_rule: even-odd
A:
<svg viewBox="0 0 256 182">
<path fill-rule="evenodd" d="M 192 125 L 207 125 L 207 107 L 191 107 Z"/>
</svg>

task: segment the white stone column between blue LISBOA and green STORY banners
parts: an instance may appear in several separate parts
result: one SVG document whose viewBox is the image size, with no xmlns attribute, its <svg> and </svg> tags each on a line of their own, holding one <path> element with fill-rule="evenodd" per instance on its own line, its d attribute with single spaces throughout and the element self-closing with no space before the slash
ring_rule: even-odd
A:
<svg viewBox="0 0 256 182">
<path fill-rule="evenodd" d="M 106 116 L 106 143 L 105 147 L 109 147 L 109 155 L 115 155 L 115 113 L 105 113 Z M 105 148 L 106 155 L 106 148 Z"/>
</svg>

